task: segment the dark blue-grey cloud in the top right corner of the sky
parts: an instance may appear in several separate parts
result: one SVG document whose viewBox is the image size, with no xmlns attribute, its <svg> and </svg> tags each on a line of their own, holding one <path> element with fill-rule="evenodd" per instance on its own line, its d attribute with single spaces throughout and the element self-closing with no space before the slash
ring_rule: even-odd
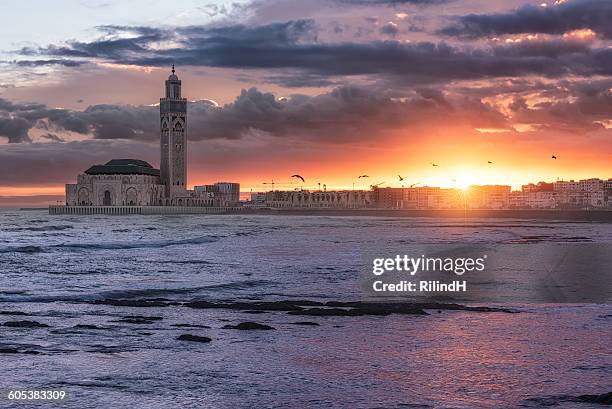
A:
<svg viewBox="0 0 612 409">
<path fill-rule="evenodd" d="M 569 0 L 547 7 L 525 5 L 509 13 L 468 14 L 455 19 L 440 34 L 465 38 L 502 34 L 563 34 L 577 29 L 591 29 L 612 39 L 612 1 Z"/>
</svg>

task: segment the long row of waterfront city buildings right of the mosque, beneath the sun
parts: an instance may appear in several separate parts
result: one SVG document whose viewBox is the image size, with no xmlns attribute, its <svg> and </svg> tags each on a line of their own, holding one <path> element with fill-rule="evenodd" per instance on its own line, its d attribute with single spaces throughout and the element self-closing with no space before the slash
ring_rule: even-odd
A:
<svg viewBox="0 0 612 409">
<path fill-rule="evenodd" d="M 272 208 L 378 209 L 612 209 L 612 179 L 538 182 L 512 191 L 508 185 L 467 189 L 420 186 L 377 187 L 355 191 L 271 191 L 250 206 Z"/>
</svg>

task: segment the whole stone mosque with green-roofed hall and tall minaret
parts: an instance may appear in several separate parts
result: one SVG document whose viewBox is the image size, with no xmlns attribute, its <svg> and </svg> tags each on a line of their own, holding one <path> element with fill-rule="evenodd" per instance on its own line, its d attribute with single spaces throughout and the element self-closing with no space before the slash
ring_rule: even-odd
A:
<svg viewBox="0 0 612 409">
<path fill-rule="evenodd" d="M 65 208 L 237 204 L 240 191 L 237 183 L 187 189 L 187 99 L 181 96 L 181 81 L 174 65 L 166 80 L 166 96 L 159 100 L 159 116 L 160 169 L 138 159 L 112 159 L 104 165 L 91 166 L 78 175 L 77 183 L 66 185 Z"/>
</svg>

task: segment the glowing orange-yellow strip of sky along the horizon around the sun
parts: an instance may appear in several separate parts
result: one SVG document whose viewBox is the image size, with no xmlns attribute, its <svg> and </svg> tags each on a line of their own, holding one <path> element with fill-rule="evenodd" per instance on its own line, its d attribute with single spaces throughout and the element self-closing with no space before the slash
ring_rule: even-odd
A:
<svg viewBox="0 0 612 409">
<path fill-rule="evenodd" d="M 393 144 L 393 146 L 391 146 Z M 551 158 L 548 146 L 534 144 L 526 150 L 515 142 L 500 140 L 499 135 L 473 132 L 470 136 L 456 135 L 441 140 L 423 138 L 401 146 L 390 140 L 381 146 L 343 146 L 319 144 L 316 148 L 273 154 L 266 160 L 266 148 L 232 158 L 220 157 L 202 161 L 200 151 L 206 151 L 207 142 L 191 142 L 189 150 L 189 185 L 237 181 L 243 191 L 276 189 L 317 189 L 318 183 L 331 189 L 367 189 L 371 184 L 385 182 L 384 186 L 400 187 L 398 174 L 405 177 L 403 184 L 413 183 L 441 187 L 464 187 L 470 184 L 508 184 L 520 189 L 528 182 L 612 177 L 609 155 L 605 151 L 560 149 Z M 395 146 L 397 145 L 397 146 Z M 272 149 L 272 148 L 270 148 Z M 262 153 L 264 152 L 264 153 Z M 130 156 L 130 155 L 128 155 Z M 493 164 L 488 164 L 488 161 Z M 157 166 L 154 160 L 151 162 Z M 437 167 L 432 163 L 438 164 Z M 299 173 L 306 183 L 297 183 L 290 176 Z M 368 174 L 369 178 L 357 179 Z M 76 175 L 67 177 L 72 182 Z M 2 186 L 0 196 L 63 195 L 62 184 L 33 186 Z"/>
</svg>

